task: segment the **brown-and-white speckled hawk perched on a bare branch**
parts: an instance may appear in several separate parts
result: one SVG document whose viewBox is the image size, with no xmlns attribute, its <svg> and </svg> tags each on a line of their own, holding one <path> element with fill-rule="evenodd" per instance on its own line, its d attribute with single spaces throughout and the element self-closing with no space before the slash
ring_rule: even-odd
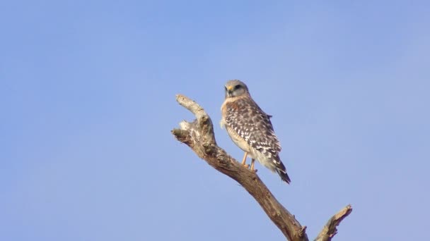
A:
<svg viewBox="0 0 430 241">
<path fill-rule="evenodd" d="M 231 140 L 245 152 L 242 165 L 250 171 L 255 169 L 255 159 L 276 171 L 281 180 L 291 183 L 282 163 L 279 152 L 281 144 L 274 133 L 269 116 L 252 99 L 248 87 L 240 80 L 228 80 L 225 87 L 225 99 L 221 105 L 221 128 L 227 130 Z M 246 164 L 246 157 L 250 156 L 251 165 Z"/>
</svg>

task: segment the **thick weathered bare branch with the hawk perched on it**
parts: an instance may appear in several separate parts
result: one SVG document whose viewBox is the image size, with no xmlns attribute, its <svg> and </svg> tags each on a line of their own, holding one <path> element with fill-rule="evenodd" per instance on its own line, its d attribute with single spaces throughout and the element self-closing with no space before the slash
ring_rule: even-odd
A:
<svg viewBox="0 0 430 241">
<path fill-rule="evenodd" d="M 176 100 L 181 106 L 194 113 L 197 119 L 192 123 L 182 121 L 179 129 L 172 130 L 175 138 L 191 147 L 197 156 L 207 161 L 217 171 L 228 175 L 242 185 L 260 204 L 272 222 L 284 233 L 287 240 L 307 241 L 306 226 L 298 223 L 294 215 L 277 201 L 258 175 L 240 165 L 236 159 L 218 147 L 214 126 L 204 109 L 181 94 L 176 96 Z"/>
</svg>

